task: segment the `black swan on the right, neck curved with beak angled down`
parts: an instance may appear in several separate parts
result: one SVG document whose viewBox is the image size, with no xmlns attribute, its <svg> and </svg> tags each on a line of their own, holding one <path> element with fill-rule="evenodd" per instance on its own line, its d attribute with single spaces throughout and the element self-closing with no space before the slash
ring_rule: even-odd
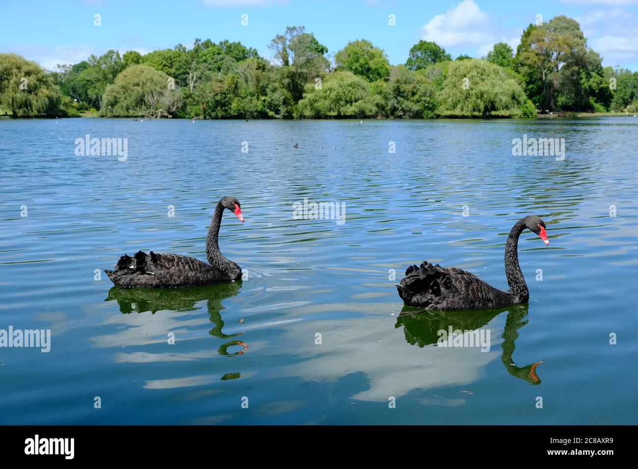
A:
<svg viewBox="0 0 638 469">
<path fill-rule="evenodd" d="M 498 308 L 526 303 L 530 299 L 523 272 L 518 262 L 518 239 L 529 228 L 549 246 L 545 222 L 537 216 L 517 221 L 505 244 L 505 275 L 510 290 L 503 292 L 468 271 L 441 267 L 425 261 L 420 267 L 411 265 L 397 285 L 399 296 L 408 306 L 425 309 Z"/>
</svg>

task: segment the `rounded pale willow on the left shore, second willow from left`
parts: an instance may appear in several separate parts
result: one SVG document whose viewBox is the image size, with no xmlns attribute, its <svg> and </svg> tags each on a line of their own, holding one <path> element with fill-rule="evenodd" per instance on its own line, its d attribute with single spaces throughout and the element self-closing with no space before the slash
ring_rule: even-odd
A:
<svg viewBox="0 0 638 469">
<path fill-rule="evenodd" d="M 147 65 L 131 65 L 115 78 L 102 98 L 107 117 L 170 117 L 181 103 L 174 80 Z"/>
</svg>

